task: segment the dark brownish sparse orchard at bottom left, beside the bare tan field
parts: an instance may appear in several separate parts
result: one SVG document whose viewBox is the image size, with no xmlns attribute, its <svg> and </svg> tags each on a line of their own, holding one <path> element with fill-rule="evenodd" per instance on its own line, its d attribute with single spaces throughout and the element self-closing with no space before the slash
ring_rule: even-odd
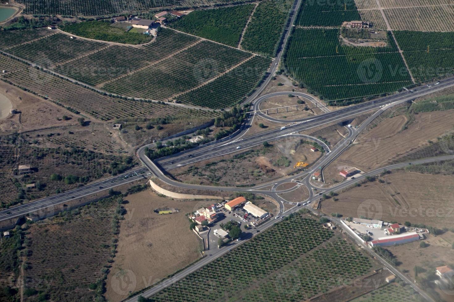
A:
<svg viewBox="0 0 454 302">
<path fill-rule="evenodd" d="M 115 257 L 116 200 L 110 197 L 30 225 L 24 240 L 25 301 L 99 299 Z"/>
</svg>

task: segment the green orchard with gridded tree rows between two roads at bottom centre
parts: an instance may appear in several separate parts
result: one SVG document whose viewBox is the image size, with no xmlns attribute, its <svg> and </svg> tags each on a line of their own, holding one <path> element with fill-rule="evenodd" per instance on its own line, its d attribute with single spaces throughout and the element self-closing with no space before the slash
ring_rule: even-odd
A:
<svg viewBox="0 0 454 302">
<path fill-rule="evenodd" d="M 333 235 L 317 221 L 293 216 L 158 292 L 153 301 L 299 301 L 335 287 L 331 274 L 335 279 L 370 271 L 367 256 L 339 237 L 330 240 Z M 289 276 L 296 280 L 291 290 L 282 284 Z"/>
</svg>

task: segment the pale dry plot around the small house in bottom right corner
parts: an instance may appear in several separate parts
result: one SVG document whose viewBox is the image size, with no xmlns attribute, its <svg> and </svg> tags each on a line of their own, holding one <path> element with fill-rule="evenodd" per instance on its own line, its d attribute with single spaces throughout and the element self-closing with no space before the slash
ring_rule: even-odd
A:
<svg viewBox="0 0 454 302">
<path fill-rule="evenodd" d="M 420 282 L 422 279 L 429 278 L 434 274 L 435 268 L 443 265 L 454 264 L 454 233 L 447 231 L 441 235 L 426 235 L 424 240 L 428 246 L 421 248 L 419 242 L 402 244 L 388 247 L 401 262 L 398 269 L 405 273 L 411 280 Z M 419 267 L 419 273 L 415 275 L 415 267 Z M 442 301 L 454 301 L 452 295 L 440 290 L 438 285 L 429 283 L 430 288 L 439 294 Z"/>
</svg>

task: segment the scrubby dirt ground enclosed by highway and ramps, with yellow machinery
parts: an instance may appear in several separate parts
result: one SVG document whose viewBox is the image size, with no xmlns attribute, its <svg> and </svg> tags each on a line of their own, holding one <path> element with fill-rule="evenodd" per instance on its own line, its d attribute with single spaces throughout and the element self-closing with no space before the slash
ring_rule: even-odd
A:
<svg viewBox="0 0 454 302">
<path fill-rule="evenodd" d="M 321 155 L 320 151 L 311 152 L 312 146 L 301 144 L 300 139 L 281 139 L 271 145 L 211 158 L 173 169 L 171 173 L 186 183 L 252 186 L 301 171 L 294 168 L 298 161 L 311 164 Z"/>
</svg>

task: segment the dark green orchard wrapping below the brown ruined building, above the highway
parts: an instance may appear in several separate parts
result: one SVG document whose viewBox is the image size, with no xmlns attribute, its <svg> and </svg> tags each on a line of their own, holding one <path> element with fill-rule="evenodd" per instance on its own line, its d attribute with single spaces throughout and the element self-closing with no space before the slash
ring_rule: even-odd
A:
<svg viewBox="0 0 454 302">
<path fill-rule="evenodd" d="M 291 75 L 310 93 L 338 100 L 377 95 L 411 84 L 410 74 L 388 36 L 386 47 L 350 47 L 338 29 L 295 29 L 284 58 Z"/>
</svg>

